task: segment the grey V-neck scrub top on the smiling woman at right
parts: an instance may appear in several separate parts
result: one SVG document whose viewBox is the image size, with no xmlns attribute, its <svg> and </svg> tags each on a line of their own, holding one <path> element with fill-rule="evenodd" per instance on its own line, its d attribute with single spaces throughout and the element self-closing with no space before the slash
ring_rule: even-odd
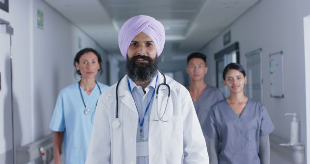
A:
<svg viewBox="0 0 310 164">
<path fill-rule="evenodd" d="M 275 129 L 263 104 L 250 98 L 240 117 L 226 98 L 217 102 L 204 127 L 209 138 L 218 139 L 218 164 L 261 164 L 259 138 Z"/>
</svg>

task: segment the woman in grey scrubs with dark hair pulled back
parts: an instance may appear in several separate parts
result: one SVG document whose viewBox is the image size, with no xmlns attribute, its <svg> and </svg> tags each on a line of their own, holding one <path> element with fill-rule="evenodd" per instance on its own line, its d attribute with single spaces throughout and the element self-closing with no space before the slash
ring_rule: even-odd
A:
<svg viewBox="0 0 310 164">
<path fill-rule="evenodd" d="M 230 97 L 214 104 L 203 128 L 210 164 L 270 164 L 269 133 L 274 130 L 263 104 L 244 95 L 244 68 L 224 68 L 223 83 Z"/>
</svg>

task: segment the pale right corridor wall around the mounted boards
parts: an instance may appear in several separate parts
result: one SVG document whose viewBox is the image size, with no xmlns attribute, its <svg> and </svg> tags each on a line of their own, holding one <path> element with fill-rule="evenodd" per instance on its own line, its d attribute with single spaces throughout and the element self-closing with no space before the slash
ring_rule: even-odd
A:
<svg viewBox="0 0 310 164">
<path fill-rule="evenodd" d="M 301 141 L 306 145 L 305 64 L 303 17 L 310 14 L 309 0 L 260 0 L 240 16 L 223 33 L 231 30 L 232 42 L 239 42 L 240 63 L 246 66 L 245 53 L 263 49 L 263 102 L 275 125 L 273 134 L 290 139 L 291 117 L 301 120 Z M 214 54 L 223 49 L 223 33 L 207 44 L 202 52 L 208 56 L 207 82 L 215 85 Z M 270 97 L 269 54 L 283 51 L 284 98 Z M 271 158 L 276 159 L 276 158 Z M 271 164 L 280 164 L 271 161 Z M 281 163 L 283 164 L 283 163 Z"/>
</svg>

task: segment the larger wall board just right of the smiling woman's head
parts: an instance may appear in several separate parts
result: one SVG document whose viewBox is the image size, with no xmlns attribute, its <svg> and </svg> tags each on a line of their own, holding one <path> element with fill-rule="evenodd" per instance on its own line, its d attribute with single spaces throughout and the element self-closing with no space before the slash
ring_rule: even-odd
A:
<svg viewBox="0 0 310 164">
<path fill-rule="evenodd" d="M 258 102 L 263 103 L 263 71 L 262 71 L 262 49 L 246 53 L 247 77 L 246 94 Z"/>
</svg>

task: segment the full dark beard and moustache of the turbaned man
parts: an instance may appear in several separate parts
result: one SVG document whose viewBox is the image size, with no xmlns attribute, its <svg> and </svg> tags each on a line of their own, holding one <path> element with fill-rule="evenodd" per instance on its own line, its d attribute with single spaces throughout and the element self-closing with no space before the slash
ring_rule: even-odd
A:
<svg viewBox="0 0 310 164">
<path fill-rule="evenodd" d="M 147 64 L 136 64 L 138 58 L 149 61 Z M 157 75 L 157 57 L 153 60 L 148 56 L 134 56 L 126 62 L 126 73 L 134 82 L 150 82 Z"/>
</svg>

